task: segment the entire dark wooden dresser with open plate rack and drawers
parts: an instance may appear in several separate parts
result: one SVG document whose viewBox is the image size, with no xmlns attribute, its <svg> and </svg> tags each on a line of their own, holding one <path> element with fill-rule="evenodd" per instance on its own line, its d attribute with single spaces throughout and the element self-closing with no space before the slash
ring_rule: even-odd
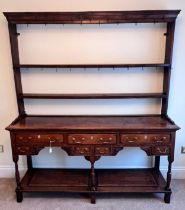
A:
<svg viewBox="0 0 185 210">
<path fill-rule="evenodd" d="M 174 161 L 175 133 L 179 127 L 167 116 L 174 42 L 175 20 L 180 10 L 94 11 L 94 12 L 5 12 L 10 34 L 15 89 L 19 116 L 6 128 L 10 131 L 15 163 L 17 202 L 23 192 L 85 192 L 91 203 L 103 192 L 164 193 L 170 202 L 171 168 Z M 21 64 L 19 61 L 17 24 L 119 24 L 167 23 L 164 63 L 144 64 Z M 162 93 L 92 93 L 43 94 L 24 93 L 21 73 L 24 68 L 145 68 L 163 69 Z M 42 116 L 27 115 L 24 99 L 142 99 L 162 100 L 160 115 L 131 116 Z M 36 169 L 32 155 L 49 147 L 59 147 L 69 156 L 84 156 L 89 169 Z M 155 156 L 149 169 L 96 169 L 102 156 L 115 156 L 125 147 L 139 147 Z M 27 156 L 28 170 L 20 178 L 18 160 Z M 166 180 L 160 172 L 160 156 L 168 157 Z"/>
</svg>

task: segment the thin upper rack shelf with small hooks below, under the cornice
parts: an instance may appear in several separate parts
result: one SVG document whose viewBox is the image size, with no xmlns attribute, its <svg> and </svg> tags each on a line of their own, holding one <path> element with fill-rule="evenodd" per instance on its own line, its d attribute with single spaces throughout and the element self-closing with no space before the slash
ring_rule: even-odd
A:
<svg viewBox="0 0 185 210">
<path fill-rule="evenodd" d="M 145 68 L 170 67 L 168 63 L 148 64 L 20 64 L 16 68 Z"/>
</svg>

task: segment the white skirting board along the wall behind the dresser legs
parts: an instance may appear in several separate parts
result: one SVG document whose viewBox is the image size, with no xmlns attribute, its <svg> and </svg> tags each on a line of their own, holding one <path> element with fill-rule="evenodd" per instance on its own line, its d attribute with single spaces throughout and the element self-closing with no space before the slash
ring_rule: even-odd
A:
<svg viewBox="0 0 185 210">
<path fill-rule="evenodd" d="M 42 168 L 44 168 L 43 166 Z M 112 168 L 112 167 L 111 167 Z M 121 167 L 118 167 L 121 168 Z M 134 168 L 134 167 L 129 167 Z M 139 167 L 140 168 L 140 167 Z M 20 176 L 22 177 L 26 172 L 26 167 L 19 166 Z M 166 177 L 167 168 L 161 168 L 161 172 Z M 15 168 L 13 166 L 1 166 L 0 167 L 0 178 L 13 178 L 15 177 Z M 173 167 L 172 169 L 173 179 L 185 179 L 185 167 Z"/>
</svg>

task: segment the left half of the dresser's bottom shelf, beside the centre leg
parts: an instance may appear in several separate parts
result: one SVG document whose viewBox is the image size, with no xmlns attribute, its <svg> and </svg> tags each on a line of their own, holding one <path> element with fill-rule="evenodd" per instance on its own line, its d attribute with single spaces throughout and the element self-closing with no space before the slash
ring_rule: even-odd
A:
<svg viewBox="0 0 185 210">
<path fill-rule="evenodd" d="M 83 169 L 33 169 L 23 177 L 22 191 L 87 192 L 89 174 Z"/>
</svg>

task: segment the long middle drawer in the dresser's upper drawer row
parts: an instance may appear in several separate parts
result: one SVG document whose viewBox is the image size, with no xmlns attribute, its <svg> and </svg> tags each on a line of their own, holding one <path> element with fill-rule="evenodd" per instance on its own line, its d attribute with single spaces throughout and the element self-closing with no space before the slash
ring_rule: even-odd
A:
<svg viewBox="0 0 185 210">
<path fill-rule="evenodd" d="M 69 144 L 116 144 L 116 134 L 70 134 Z"/>
</svg>

